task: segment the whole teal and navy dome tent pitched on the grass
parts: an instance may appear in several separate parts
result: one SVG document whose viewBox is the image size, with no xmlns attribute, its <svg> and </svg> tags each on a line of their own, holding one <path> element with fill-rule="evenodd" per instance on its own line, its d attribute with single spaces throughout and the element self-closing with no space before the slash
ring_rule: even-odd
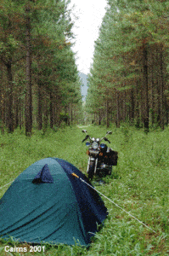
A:
<svg viewBox="0 0 169 256">
<path fill-rule="evenodd" d="M 108 215 L 104 202 L 75 166 L 58 158 L 25 169 L 0 200 L 0 237 L 20 242 L 87 246 Z"/>
</svg>

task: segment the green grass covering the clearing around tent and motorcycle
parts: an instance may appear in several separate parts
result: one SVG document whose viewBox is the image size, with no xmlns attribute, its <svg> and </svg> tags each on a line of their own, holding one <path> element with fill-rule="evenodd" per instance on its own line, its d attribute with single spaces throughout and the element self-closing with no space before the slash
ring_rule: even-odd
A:
<svg viewBox="0 0 169 256">
<path fill-rule="evenodd" d="M 89 126 L 88 133 L 102 137 L 107 131 L 103 126 Z M 20 172 L 37 160 L 59 157 L 70 161 L 86 173 L 87 147 L 82 144 L 84 134 L 76 127 L 66 127 L 46 135 L 34 131 L 32 137 L 25 137 L 24 131 L 13 135 L 0 135 L 0 187 L 14 180 Z M 156 233 L 147 229 L 135 219 L 103 198 L 109 210 L 104 227 L 99 230 L 89 248 L 78 245 L 58 247 L 46 245 L 41 255 L 121 255 L 121 256 L 165 256 L 169 254 L 169 129 L 150 131 L 145 134 L 127 125 L 110 129 L 111 147 L 119 152 L 118 166 L 112 176 L 105 177 L 105 185 L 96 186 L 101 193 L 116 204 L 143 221 Z M 9 186 L 9 185 L 8 185 Z M 0 189 L 0 197 L 7 187 Z M 0 255 L 4 246 L 17 245 L 14 241 L 0 241 Z M 24 255 L 40 255 L 24 253 Z M 22 255 L 12 253 L 11 255 Z"/>
</svg>

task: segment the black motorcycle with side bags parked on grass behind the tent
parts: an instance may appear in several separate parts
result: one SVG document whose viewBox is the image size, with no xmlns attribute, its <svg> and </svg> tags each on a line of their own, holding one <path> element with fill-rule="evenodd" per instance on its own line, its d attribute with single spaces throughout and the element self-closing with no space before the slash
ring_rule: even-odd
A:
<svg viewBox="0 0 169 256">
<path fill-rule="evenodd" d="M 82 140 L 82 143 L 87 141 L 86 145 L 88 148 L 88 164 L 87 164 L 87 174 L 88 178 L 93 179 L 94 175 L 99 177 L 105 177 L 106 175 L 111 175 L 112 166 L 117 165 L 118 153 L 112 148 L 107 147 L 105 143 L 101 143 L 102 140 L 110 143 L 110 140 L 106 137 L 112 134 L 111 131 L 107 131 L 106 135 L 102 138 L 90 137 L 87 134 L 87 130 L 82 130 L 86 133 L 86 137 Z"/>
</svg>

